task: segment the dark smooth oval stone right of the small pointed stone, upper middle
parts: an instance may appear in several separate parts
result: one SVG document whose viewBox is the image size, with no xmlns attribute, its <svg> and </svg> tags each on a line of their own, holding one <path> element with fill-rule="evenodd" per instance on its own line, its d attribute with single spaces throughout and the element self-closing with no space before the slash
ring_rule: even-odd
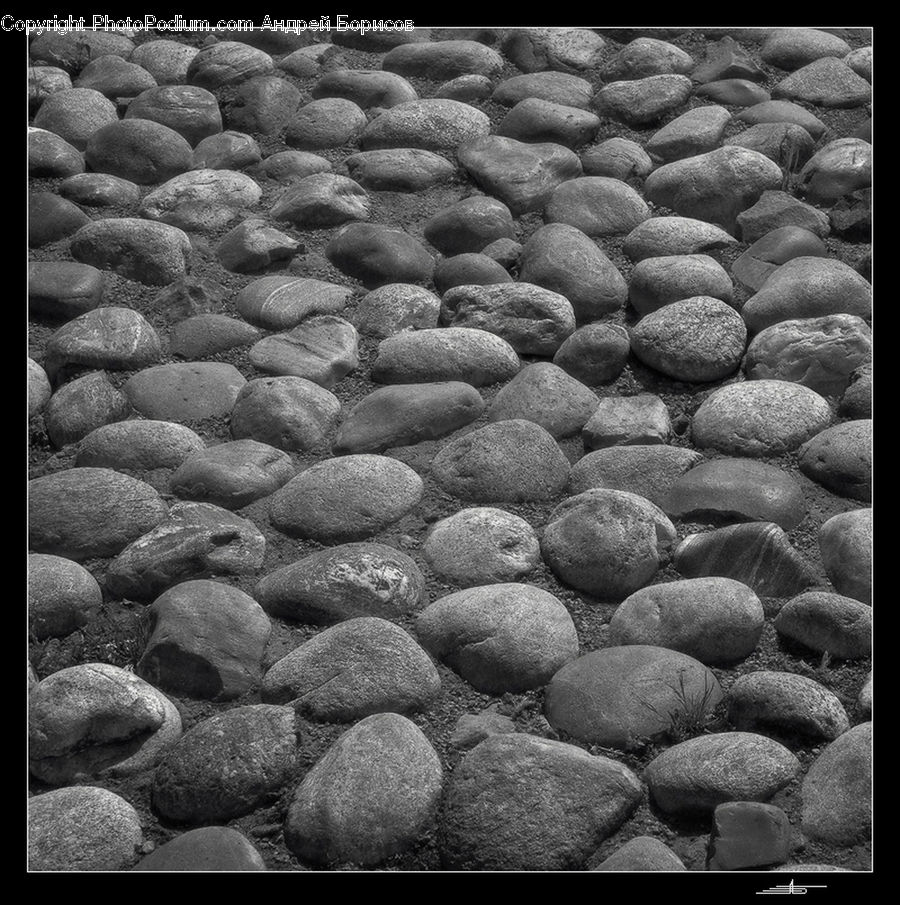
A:
<svg viewBox="0 0 900 905">
<path fill-rule="evenodd" d="M 416 239 L 375 223 L 351 223 L 338 230 L 325 246 L 325 256 L 366 289 L 386 283 L 425 283 L 434 272 L 433 258 Z"/>
</svg>

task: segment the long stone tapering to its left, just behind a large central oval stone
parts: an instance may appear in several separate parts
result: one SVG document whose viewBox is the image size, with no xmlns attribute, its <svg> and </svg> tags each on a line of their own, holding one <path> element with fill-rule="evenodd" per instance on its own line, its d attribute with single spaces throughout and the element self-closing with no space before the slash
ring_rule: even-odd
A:
<svg viewBox="0 0 900 905">
<path fill-rule="evenodd" d="M 413 446 L 453 433 L 483 411 L 478 391 L 459 381 L 383 387 L 350 410 L 332 450 L 346 455 Z"/>
</svg>

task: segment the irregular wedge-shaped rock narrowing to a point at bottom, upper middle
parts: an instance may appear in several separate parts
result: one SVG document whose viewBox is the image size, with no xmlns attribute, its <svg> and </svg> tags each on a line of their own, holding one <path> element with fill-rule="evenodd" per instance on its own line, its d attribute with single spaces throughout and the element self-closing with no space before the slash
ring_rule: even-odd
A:
<svg viewBox="0 0 900 905">
<path fill-rule="evenodd" d="M 456 156 L 476 185 L 516 216 L 543 210 L 560 183 L 582 172 L 578 157 L 562 145 L 526 144 L 500 135 L 466 141 Z"/>
</svg>

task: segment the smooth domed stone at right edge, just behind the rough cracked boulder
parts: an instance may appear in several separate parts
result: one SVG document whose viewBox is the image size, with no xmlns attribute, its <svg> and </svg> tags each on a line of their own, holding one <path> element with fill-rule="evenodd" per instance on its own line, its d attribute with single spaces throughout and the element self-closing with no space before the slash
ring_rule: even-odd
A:
<svg viewBox="0 0 900 905">
<path fill-rule="evenodd" d="M 782 264 L 747 299 L 741 314 L 751 333 L 795 318 L 872 314 L 872 286 L 848 264 L 802 256 Z"/>
</svg>

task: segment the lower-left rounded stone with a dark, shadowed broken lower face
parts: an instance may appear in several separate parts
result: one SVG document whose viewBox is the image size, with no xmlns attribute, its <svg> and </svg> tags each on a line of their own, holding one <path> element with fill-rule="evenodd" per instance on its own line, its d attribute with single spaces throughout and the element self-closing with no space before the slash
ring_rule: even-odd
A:
<svg viewBox="0 0 900 905">
<path fill-rule="evenodd" d="M 150 608 L 153 632 L 136 671 L 178 695 L 228 701 L 259 683 L 272 631 L 262 607 L 217 581 L 185 581 Z"/>
</svg>

